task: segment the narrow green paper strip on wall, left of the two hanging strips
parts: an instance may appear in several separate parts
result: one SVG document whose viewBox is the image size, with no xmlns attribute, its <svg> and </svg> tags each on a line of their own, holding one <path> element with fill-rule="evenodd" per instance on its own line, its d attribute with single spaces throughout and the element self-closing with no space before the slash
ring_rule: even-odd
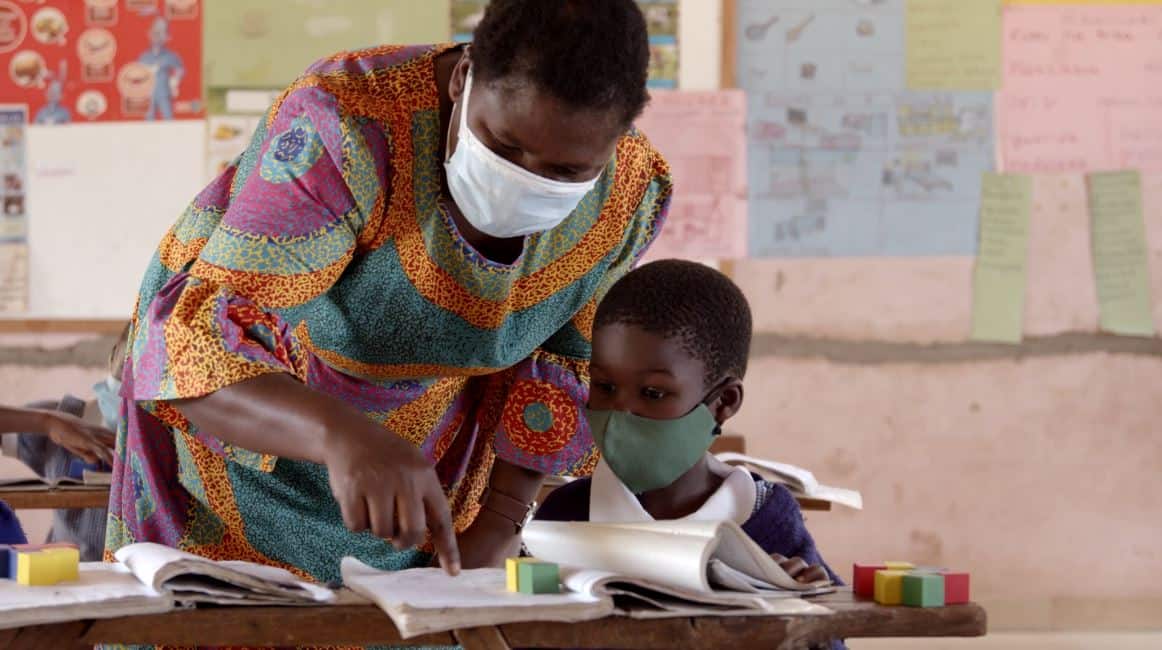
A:
<svg viewBox="0 0 1162 650">
<path fill-rule="evenodd" d="M 974 341 L 1020 343 L 1032 203 L 1032 177 L 984 174 L 981 244 L 973 271 Z"/>
</svg>

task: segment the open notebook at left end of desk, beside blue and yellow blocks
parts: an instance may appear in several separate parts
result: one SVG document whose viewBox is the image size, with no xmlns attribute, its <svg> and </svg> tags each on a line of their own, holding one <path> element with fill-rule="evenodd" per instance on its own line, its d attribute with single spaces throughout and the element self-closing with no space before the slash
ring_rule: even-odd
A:
<svg viewBox="0 0 1162 650">
<path fill-rule="evenodd" d="M 83 563 L 77 581 L 26 587 L 0 580 L 0 629 L 159 614 L 199 602 L 316 605 L 336 598 L 281 569 L 214 562 L 159 544 L 132 544 L 116 556 L 120 564 Z"/>
</svg>

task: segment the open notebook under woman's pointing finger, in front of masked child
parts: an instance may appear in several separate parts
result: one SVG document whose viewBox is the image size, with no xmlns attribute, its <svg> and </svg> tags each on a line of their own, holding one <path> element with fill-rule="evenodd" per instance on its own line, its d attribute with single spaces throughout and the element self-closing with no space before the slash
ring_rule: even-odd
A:
<svg viewBox="0 0 1162 650">
<path fill-rule="evenodd" d="M 788 576 L 734 523 L 535 521 L 524 542 L 561 565 L 561 594 L 510 593 L 500 570 L 382 572 L 343 560 L 343 581 L 383 609 L 404 638 L 522 621 L 829 614 L 797 597 L 824 593 Z"/>
</svg>

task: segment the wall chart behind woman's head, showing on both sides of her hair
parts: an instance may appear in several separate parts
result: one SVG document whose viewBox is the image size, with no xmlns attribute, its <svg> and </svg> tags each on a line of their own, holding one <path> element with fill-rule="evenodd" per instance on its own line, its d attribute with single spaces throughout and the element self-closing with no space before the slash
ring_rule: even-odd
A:
<svg viewBox="0 0 1162 650">
<path fill-rule="evenodd" d="M 452 0 L 452 38 L 472 41 L 488 0 Z M 679 71 L 679 0 L 638 0 L 650 31 L 650 87 L 676 88 Z"/>
</svg>

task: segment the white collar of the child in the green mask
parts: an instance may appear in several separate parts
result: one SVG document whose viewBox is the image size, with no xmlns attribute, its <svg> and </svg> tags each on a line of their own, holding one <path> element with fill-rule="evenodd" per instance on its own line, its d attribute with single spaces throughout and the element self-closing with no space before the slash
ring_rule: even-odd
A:
<svg viewBox="0 0 1162 650">
<path fill-rule="evenodd" d="M 706 502 L 682 520 L 733 521 L 743 526 L 751 519 L 756 499 L 758 490 L 751 473 L 744 467 L 734 467 Z M 638 522 L 654 521 L 654 517 L 602 459 L 597 462 L 589 486 L 589 521 Z"/>
</svg>

